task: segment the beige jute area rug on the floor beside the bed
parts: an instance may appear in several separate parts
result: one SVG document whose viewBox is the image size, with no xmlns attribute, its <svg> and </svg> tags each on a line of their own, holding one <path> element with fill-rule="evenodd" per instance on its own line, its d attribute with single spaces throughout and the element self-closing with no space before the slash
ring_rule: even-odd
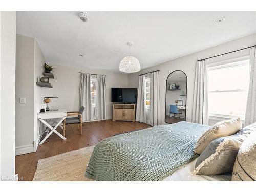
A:
<svg viewBox="0 0 256 192">
<path fill-rule="evenodd" d="M 94 147 L 40 159 L 33 181 L 92 181 L 84 174 Z"/>
</svg>

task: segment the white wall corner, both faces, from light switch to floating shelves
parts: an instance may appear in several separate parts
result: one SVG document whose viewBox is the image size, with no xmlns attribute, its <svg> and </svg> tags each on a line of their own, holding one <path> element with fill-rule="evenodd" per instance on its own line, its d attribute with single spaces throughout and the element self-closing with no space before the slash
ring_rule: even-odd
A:
<svg viewBox="0 0 256 192">
<path fill-rule="evenodd" d="M 15 155 L 20 155 L 36 151 L 38 145 L 41 123 L 37 113 L 45 88 L 36 86 L 36 81 L 42 76 L 45 58 L 35 38 L 19 34 L 16 37 Z M 20 97 L 26 98 L 25 104 L 19 103 Z"/>
</svg>

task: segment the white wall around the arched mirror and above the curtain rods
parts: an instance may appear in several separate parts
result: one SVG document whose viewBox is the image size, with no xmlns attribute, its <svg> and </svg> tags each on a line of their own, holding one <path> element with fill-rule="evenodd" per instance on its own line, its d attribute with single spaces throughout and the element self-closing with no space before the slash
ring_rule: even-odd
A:
<svg viewBox="0 0 256 192">
<path fill-rule="evenodd" d="M 147 68 L 141 70 L 138 73 L 129 74 L 128 75 L 128 84 L 130 87 L 137 87 L 139 81 L 139 74 L 151 72 L 154 70 L 160 70 L 160 103 L 161 103 L 161 113 L 162 119 L 161 122 L 164 124 L 164 111 L 165 111 L 165 85 L 166 85 L 166 78 L 168 75 L 175 71 L 181 70 L 187 75 L 187 110 L 186 110 L 186 120 L 191 122 L 192 118 L 192 105 L 193 105 L 193 94 L 194 94 L 194 80 L 195 80 L 195 69 L 196 69 L 196 61 L 199 59 L 203 59 L 206 57 L 219 55 L 222 53 L 242 49 L 245 47 L 253 46 L 256 44 L 256 34 L 248 35 L 236 40 L 232 40 L 226 42 L 225 44 L 218 45 L 209 49 L 205 49 L 203 51 L 190 54 L 184 57 L 180 57 L 175 60 L 167 61 L 161 63 L 160 65 Z M 186 45 L 189 46 L 189 45 Z M 217 62 L 219 60 L 226 60 L 234 57 L 245 56 L 249 53 L 249 50 L 244 50 L 240 52 L 235 52 L 232 54 L 215 57 L 214 59 L 207 60 L 208 63 L 210 62 Z"/>
</svg>

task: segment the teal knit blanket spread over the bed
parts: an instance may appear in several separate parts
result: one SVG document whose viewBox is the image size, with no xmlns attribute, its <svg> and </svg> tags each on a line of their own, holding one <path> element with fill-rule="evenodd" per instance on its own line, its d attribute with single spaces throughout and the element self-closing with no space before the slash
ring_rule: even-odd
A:
<svg viewBox="0 0 256 192">
<path fill-rule="evenodd" d="M 94 148 L 86 177 L 97 181 L 159 181 L 194 160 L 208 126 L 179 122 L 115 135 Z"/>
</svg>

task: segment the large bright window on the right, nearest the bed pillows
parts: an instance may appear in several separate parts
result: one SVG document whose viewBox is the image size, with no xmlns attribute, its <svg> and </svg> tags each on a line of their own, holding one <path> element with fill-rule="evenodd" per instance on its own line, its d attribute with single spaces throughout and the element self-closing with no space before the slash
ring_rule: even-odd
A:
<svg viewBox="0 0 256 192">
<path fill-rule="evenodd" d="M 209 115 L 244 119 L 249 86 L 249 60 L 208 68 Z"/>
</svg>

